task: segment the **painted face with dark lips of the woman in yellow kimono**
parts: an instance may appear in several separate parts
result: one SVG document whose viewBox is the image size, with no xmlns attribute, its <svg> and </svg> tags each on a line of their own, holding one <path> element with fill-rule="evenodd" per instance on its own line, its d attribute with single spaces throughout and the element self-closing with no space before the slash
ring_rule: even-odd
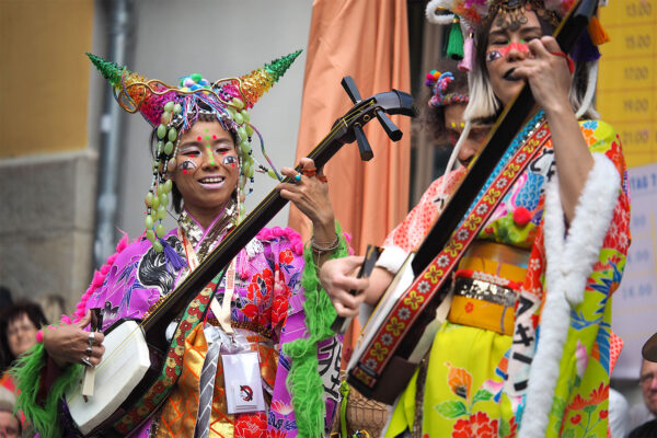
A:
<svg viewBox="0 0 657 438">
<path fill-rule="evenodd" d="M 486 69 L 491 85 L 504 105 L 520 91 L 523 80 L 514 76 L 514 70 L 530 57 L 527 43 L 543 36 L 541 23 L 533 11 L 525 11 L 527 22 L 515 31 L 497 25 L 497 20 L 488 32 L 486 47 Z"/>
</svg>

